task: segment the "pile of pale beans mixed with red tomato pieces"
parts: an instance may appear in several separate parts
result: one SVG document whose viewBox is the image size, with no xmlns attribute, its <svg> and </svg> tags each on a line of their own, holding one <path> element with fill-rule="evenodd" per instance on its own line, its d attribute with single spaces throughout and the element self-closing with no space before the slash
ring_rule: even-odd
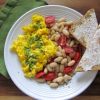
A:
<svg viewBox="0 0 100 100">
<path fill-rule="evenodd" d="M 54 16 L 47 16 L 45 23 L 50 30 L 49 37 L 58 50 L 56 55 L 48 60 L 43 71 L 36 74 L 35 79 L 40 83 L 46 82 L 51 88 L 57 88 L 72 79 L 83 48 L 70 34 L 72 21 L 67 21 L 64 17 L 56 20 Z"/>
</svg>

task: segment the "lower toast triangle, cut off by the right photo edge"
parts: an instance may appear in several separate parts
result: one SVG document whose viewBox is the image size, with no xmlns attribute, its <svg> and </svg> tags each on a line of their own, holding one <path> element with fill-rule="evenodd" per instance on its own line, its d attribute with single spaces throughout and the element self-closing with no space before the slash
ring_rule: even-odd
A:
<svg viewBox="0 0 100 100">
<path fill-rule="evenodd" d="M 89 47 L 77 65 L 75 72 L 100 70 L 100 27 L 92 37 Z"/>
</svg>

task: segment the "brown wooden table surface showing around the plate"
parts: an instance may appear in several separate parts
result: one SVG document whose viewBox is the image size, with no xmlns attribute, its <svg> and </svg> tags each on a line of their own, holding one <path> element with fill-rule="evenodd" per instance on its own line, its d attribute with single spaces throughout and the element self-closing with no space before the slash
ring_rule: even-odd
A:
<svg viewBox="0 0 100 100">
<path fill-rule="evenodd" d="M 2 0 L 0 0 L 0 2 L 1 1 Z M 53 4 L 55 3 L 53 2 Z M 95 8 L 98 22 L 100 22 L 100 0 L 68 0 L 68 3 L 65 3 L 65 5 L 76 9 L 82 14 L 84 14 L 90 8 Z M 100 100 L 100 72 L 91 86 L 73 100 L 84 99 Z M 3 76 L 0 76 L 0 100 L 32 100 L 32 98 L 22 93 L 10 79 L 6 79 Z"/>
</svg>

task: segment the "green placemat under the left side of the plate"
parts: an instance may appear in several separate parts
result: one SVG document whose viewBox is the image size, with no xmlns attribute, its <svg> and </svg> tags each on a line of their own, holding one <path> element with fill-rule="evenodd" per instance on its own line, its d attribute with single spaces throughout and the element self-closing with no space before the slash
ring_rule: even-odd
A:
<svg viewBox="0 0 100 100">
<path fill-rule="evenodd" d="M 28 10 L 45 4 L 43 0 L 7 0 L 0 8 L 0 74 L 6 78 L 9 76 L 4 63 L 4 44 L 11 26 Z"/>
</svg>

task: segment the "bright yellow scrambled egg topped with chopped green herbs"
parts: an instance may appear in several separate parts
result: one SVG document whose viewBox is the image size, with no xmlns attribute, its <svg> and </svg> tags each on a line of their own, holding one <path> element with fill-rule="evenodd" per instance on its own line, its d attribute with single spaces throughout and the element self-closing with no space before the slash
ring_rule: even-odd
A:
<svg viewBox="0 0 100 100">
<path fill-rule="evenodd" d="M 48 38 L 45 19 L 41 15 L 33 15 L 32 23 L 23 27 L 24 34 L 13 42 L 11 50 L 17 53 L 26 77 L 32 78 L 43 70 L 48 59 L 55 56 L 57 47 Z"/>
</svg>

